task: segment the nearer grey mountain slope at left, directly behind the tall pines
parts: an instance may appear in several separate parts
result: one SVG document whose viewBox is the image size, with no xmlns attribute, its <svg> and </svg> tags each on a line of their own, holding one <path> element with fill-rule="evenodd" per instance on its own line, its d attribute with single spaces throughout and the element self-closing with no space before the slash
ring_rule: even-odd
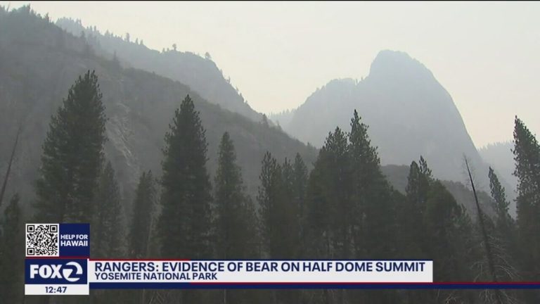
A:
<svg viewBox="0 0 540 304">
<path fill-rule="evenodd" d="M 250 194 L 255 194 L 266 151 L 283 158 L 299 152 L 309 165 L 316 149 L 291 139 L 275 127 L 224 110 L 205 101 L 190 87 L 154 73 L 123 69 L 89 52 L 80 37 L 61 30 L 28 10 L 6 13 L 0 8 L 0 172 L 19 125 L 23 125 L 8 189 L 31 201 L 41 143 L 51 114 L 56 113 L 78 75 L 96 70 L 108 122 L 105 154 L 113 162 L 124 198 L 131 201 L 139 174 L 160 175 L 161 148 L 174 110 L 186 94 L 200 111 L 209 149 L 208 168 L 214 175 L 219 139 L 229 131 Z"/>
</svg>

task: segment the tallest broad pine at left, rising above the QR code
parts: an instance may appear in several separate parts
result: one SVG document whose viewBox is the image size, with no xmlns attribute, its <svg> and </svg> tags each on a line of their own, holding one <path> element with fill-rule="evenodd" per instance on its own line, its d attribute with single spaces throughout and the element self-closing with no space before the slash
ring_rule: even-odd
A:
<svg viewBox="0 0 540 304">
<path fill-rule="evenodd" d="M 37 180 L 39 222 L 90 222 L 105 143 L 95 72 L 79 76 L 51 118 Z"/>
</svg>

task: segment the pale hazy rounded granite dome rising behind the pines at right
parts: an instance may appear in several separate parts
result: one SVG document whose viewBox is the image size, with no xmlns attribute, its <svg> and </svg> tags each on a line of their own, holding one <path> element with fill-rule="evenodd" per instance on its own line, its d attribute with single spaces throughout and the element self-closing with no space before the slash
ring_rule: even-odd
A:
<svg viewBox="0 0 540 304">
<path fill-rule="evenodd" d="M 463 182 L 463 154 L 479 177 L 487 169 L 449 93 L 406 53 L 381 51 L 361 82 L 332 80 L 295 110 L 285 131 L 321 146 L 335 126 L 349 130 L 356 109 L 383 164 L 409 165 L 422 155 L 436 177 Z"/>
</svg>

